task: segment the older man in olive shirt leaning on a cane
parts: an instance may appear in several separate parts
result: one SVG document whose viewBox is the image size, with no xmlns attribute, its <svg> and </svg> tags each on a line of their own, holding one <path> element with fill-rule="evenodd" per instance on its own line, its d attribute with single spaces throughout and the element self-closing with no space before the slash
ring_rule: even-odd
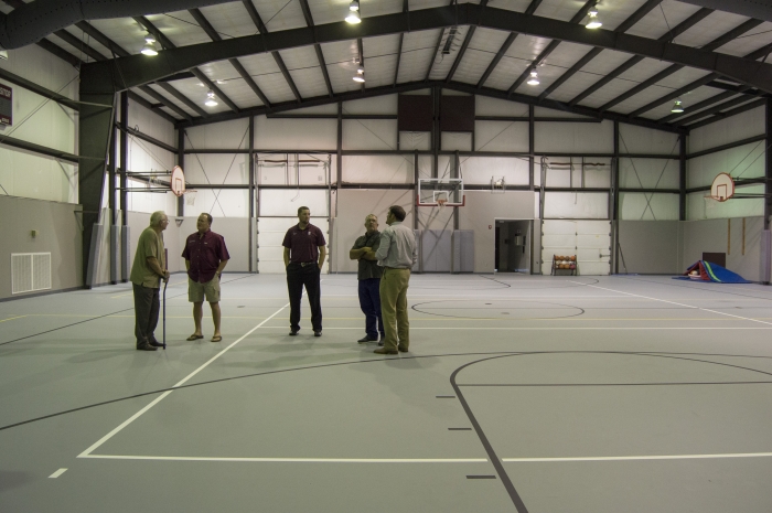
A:
<svg viewBox="0 0 772 513">
<path fill-rule="evenodd" d="M 163 211 L 153 212 L 150 226 L 144 228 L 137 243 L 135 261 L 131 265 L 131 287 L 135 297 L 135 336 L 137 351 L 156 351 L 163 346 L 153 334 L 158 325 L 160 301 L 158 292 L 161 280 L 169 281 L 163 234 L 169 225 L 169 217 Z M 165 290 L 165 287 L 164 287 Z M 165 307 L 165 301 L 164 301 Z M 165 331 L 165 323 L 164 323 Z"/>
</svg>

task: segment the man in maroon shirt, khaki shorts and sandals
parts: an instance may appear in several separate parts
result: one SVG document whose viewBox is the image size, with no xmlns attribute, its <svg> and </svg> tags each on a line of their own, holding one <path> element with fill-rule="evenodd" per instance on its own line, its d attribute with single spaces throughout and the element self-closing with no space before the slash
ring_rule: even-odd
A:
<svg viewBox="0 0 772 513">
<path fill-rule="evenodd" d="M 203 339 L 201 319 L 204 317 L 204 298 L 212 307 L 214 335 L 212 342 L 221 342 L 219 332 L 219 275 L 228 263 L 230 255 L 225 247 L 225 239 L 210 229 L 212 216 L 201 214 L 196 221 L 199 231 L 187 237 L 182 257 L 187 269 L 187 300 L 193 303 L 193 321 L 195 332 L 187 340 Z"/>
</svg>

